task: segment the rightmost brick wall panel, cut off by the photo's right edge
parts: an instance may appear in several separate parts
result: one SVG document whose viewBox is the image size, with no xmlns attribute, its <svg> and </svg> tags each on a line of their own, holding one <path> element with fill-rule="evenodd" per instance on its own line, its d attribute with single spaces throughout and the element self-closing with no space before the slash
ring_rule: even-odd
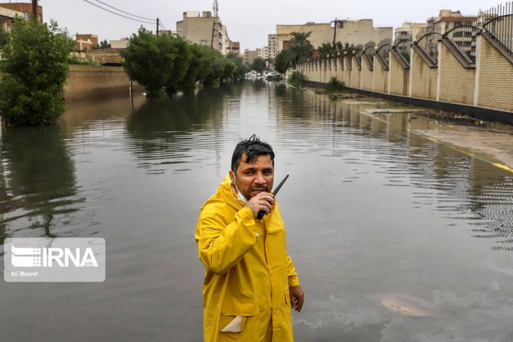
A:
<svg viewBox="0 0 513 342">
<path fill-rule="evenodd" d="M 513 111 L 513 64 L 486 38 L 481 41 L 477 105 Z"/>
</svg>

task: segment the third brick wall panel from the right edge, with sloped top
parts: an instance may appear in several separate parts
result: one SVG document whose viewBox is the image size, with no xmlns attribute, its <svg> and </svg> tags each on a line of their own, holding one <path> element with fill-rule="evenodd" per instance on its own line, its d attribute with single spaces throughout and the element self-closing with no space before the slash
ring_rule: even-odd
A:
<svg viewBox="0 0 513 342">
<path fill-rule="evenodd" d="M 411 96 L 436 100 L 437 68 L 427 66 L 415 49 L 411 49 Z"/>
</svg>

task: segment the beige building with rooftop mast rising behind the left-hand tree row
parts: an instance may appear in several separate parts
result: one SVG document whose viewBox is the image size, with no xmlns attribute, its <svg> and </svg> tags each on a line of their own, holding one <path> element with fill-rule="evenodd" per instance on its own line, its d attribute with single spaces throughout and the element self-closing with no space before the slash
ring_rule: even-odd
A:
<svg viewBox="0 0 513 342">
<path fill-rule="evenodd" d="M 227 55 L 228 33 L 218 16 L 212 12 L 184 12 L 183 20 L 177 21 L 177 35 L 199 45 L 212 46 L 223 55 Z"/>
</svg>

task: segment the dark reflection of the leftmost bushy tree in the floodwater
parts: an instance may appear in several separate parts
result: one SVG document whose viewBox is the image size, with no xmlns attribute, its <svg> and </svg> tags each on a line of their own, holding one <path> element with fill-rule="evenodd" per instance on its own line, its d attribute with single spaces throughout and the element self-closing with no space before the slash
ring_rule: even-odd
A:
<svg viewBox="0 0 513 342">
<path fill-rule="evenodd" d="M 1 142 L 2 237 L 19 237 L 26 228 L 53 237 L 53 227 L 66 224 L 81 202 L 60 128 L 8 128 Z"/>
</svg>

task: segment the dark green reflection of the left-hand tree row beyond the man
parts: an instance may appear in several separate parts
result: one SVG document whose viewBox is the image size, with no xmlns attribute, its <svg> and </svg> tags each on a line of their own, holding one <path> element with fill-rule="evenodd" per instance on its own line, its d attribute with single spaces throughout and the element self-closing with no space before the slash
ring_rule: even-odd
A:
<svg viewBox="0 0 513 342">
<path fill-rule="evenodd" d="M 224 138 L 210 133 L 223 130 L 228 99 L 239 97 L 241 90 L 241 86 L 224 85 L 177 98 L 147 99 L 127 119 L 129 150 L 142 161 L 140 167 L 152 169 L 151 173 L 164 172 L 155 165 L 195 162 L 191 150 L 215 149 Z M 202 133 L 191 135 L 196 130 Z"/>
</svg>

